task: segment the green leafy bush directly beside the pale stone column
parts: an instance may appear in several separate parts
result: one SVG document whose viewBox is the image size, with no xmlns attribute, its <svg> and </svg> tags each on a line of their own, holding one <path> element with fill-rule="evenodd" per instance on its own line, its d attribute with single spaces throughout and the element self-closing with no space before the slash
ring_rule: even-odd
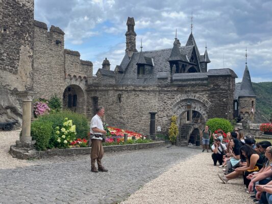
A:
<svg viewBox="0 0 272 204">
<path fill-rule="evenodd" d="M 53 132 L 52 125 L 50 121 L 35 120 L 31 123 L 31 136 L 36 140 L 37 150 L 45 150 L 48 147 Z"/>
</svg>

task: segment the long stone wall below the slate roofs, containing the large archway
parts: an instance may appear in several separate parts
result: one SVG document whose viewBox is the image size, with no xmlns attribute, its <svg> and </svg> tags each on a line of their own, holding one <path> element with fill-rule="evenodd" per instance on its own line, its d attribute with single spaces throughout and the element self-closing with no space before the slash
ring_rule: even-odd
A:
<svg viewBox="0 0 272 204">
<path fill-rule="evenodd" d="M 105 107 L 109 125 L 143 134 L 149 134 L 149 112 L 157 112 L 156 130 L 161 126 L 161 133 L 167 134 L 171 116 L 176 114 L 180 120 L 189 110 L 186 108 L 188 101 L 191 110 L 202 113 L 203 122 L 214 117 L 229 119 L 233 114 L 234 78 L 216 79 L 202 84 L 168 86 L 88 85 L 86 114 L 89 118 L 93 116 L 93 97 L 98 97 L 98 106 Z M 121 102 L 118 94 L 121 94 Z"/>
</svg>

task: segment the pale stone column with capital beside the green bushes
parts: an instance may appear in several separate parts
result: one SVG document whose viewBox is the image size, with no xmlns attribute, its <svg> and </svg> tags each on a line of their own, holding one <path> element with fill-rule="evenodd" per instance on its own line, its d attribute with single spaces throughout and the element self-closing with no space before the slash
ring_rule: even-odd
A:
<svg viewBox="0 0 272 204">
<path fill-rule="evenodd" d="M 22 135 L 20 142 L 22 146 L 29 147 L 31 145 L 32 137 L 31 130 L 31 112 L 32 112 L 32 98 L 34 93 L 23 91 L 18 93 L 22 98 Z"/>
</svg>

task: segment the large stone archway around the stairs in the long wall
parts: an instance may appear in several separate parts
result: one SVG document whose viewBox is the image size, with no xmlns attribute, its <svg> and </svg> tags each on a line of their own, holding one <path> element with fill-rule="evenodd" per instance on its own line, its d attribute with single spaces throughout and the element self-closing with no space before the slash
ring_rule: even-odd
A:
<svg viewBox="0 0 272 204">
<path fill-rule="evenodd" d="M 194 129 L 201 130 L 208 120 L 208 110 L 211 106 L 210 101 L 197 94 L 178 95 L 171 103 L 173 112 L 178 116 L 180 134 L 177 138 L 177 145 L 185 146 L 188 144 L 189 136 Z M 184 114 L 187 111 L 195 111 L 201 115 L 201 120 L 187 123 L 183 122 Z"/>
</svg>

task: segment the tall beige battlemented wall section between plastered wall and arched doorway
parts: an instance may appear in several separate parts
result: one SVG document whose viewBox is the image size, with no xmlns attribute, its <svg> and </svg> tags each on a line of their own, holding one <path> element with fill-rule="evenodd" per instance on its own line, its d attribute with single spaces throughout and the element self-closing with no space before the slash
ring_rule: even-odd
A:
<svg viewBox="0 0 272 204">
<path fill-rule="evenodd" d="M 58 43 L 56 43 L 58 40 Z M 61 42 L 61 43 L 60 43 Z M 64 33 L 57 27 L 35 21 L 34 28 L 34 91 L 36 98 L 62 98 L 64 86 Z"/>
</svg>

